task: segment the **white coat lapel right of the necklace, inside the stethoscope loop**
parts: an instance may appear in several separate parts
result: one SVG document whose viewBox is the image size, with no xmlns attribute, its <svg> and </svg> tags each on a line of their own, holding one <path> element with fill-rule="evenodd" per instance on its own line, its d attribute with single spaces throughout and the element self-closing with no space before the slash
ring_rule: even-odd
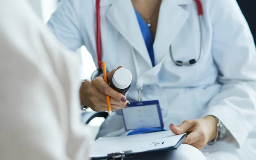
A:
<svg viewBox="0 0 256 160">
<path fill-rule="evenodd" d="M 156 62 L 168 53 L 169 47 L 175 40 L 175 37 L 185 24 L 189 13 L 179 5 L 192 3 L 192 0 L 163 0 L 159 12 L 157 23 L 157 33 L 154 42 L 154 52 Z"/>
</svg>

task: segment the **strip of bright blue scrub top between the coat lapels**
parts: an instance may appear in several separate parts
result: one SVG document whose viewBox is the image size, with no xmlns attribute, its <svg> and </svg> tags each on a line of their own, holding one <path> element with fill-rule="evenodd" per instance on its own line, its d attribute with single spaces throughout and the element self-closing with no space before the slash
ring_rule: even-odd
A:
<svg viewBox="0 0 256 160">
<path fill-rule="evenodd" d="M 140 17 L 140 14 L 136 10 L 135 10 L 135 13 L 136 13 L 139 25 L 140 25 L 140 31 L 143 35 L 143 39 L 145 41 L 145 45 L 148 50 L 149 57 L 151 59 L 152 66 L 154 67 L 155 62 L 154 62 L 154 49 L 153 49 L 154 39 L 153 39 L 153 36 L 151 34 L 150 29 L 148 28 L 148 25 L 144 22 L 142 17 Z"/>
</svg>

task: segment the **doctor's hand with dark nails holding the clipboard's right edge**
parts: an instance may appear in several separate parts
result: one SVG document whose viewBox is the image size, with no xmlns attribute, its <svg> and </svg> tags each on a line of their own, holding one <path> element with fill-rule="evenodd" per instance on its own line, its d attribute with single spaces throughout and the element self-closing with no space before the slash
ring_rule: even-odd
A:
<svg viewBox="0 0 256 160">
<path fill-rule="evenodd" d="M 170 124 L 170 129 L 176 135 L 189 133 L 183 143 L 201 150 L 216 137 L 217 122 L 213 116 L 209 115 L 202 119 L 183 121 L 179 126 Z"/>
</svg>

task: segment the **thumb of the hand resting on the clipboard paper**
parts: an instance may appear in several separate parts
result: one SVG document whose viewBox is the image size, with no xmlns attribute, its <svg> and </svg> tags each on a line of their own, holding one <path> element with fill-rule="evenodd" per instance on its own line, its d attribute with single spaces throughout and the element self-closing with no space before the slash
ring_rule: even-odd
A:
<svg viewBox="0 0 256 160">
<path fill-rule="evenodd" d="M 180 135 L 186 132 L 190 132 L 192 127 L 194 126 L 194 122 L 192 120 L 183 121 L 179 126 L 175 126 L 174 124 L 170 124 L 170 129 L 176 135 Z"/>
</svg>

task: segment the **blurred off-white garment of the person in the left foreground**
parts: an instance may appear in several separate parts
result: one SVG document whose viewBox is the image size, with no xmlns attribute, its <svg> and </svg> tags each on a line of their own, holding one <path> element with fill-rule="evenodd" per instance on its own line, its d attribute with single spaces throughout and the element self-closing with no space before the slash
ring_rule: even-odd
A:
<svg viewBox="0 0 256 160">
<path fill-rule="evenodd" d="M 86 160 L 79 59 L 24 0 L 0 0 L 0 160 Z"/>
</svg>

